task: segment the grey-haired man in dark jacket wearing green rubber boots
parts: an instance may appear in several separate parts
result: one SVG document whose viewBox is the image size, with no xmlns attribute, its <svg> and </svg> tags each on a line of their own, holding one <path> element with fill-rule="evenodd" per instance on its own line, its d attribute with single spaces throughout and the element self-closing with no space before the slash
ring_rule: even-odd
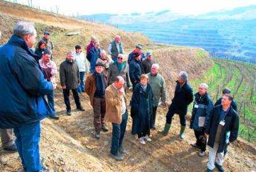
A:
<svg viewBox="0 0 256 172">
<path fill-rule="evenodd" d="M 187 107 L 193 101 L 193 90 L 189 83 L 187 83 L 187 72 L 181 71 L 178 74 L 178 80 L 176 81 L 175 93 L 172 99 L 172 104 L 166 114 L 166 123 L 163 134 L 168 135 L 170 127 L 172 125 L 172 118 L 175 113 L 180 117 L 180 139 L 184 139 L 184 131 L 186 128 L 186 114 Z"/>
</svg>

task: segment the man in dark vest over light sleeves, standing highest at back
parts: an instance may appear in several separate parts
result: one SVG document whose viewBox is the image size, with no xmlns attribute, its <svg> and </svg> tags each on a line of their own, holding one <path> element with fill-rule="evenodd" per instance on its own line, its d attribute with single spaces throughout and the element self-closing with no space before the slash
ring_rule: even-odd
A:
<svg viewBox="0 0 256 172">
<path fill-rule="evenodd" d="M 114 62 L 117 62 L 117 56 L 119 54 L 124 54 L 124 47 L 121 43 L 121 37 L 119 35 L 116 35 L 115 40 L 108 45 L 108 54 L 111 55 Z"/>
</svg>

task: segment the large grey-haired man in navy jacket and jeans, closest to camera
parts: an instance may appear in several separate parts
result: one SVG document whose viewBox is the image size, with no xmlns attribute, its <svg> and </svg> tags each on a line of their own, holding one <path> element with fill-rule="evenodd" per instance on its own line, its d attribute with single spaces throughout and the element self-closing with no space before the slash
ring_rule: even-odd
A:
<svg viewBox="0 0 256 172">
<path fill-rule="evenodd" d="M 44 79 L 31 50 L 36 37 L 33 24 L 20 21 L 0 48 L 0 128 L 14 129 L 23 168 L 29 172 L 42 170 L 40 120 L 53 113 L 44 100 L 52 83 Z"/>
</svg>

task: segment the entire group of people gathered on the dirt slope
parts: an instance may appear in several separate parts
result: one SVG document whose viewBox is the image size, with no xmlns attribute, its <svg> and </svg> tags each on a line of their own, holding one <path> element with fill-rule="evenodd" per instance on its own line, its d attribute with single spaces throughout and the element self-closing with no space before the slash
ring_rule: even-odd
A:
<svg viewBox="0 0 256 172">
<path fill-rule="evenodd" d="M 54 110 L 57 67 L 51 60 L 54 46 L 49 36 L 49 32 L 44 32 L 44 37 L 33 52 L 37 32 L 33 23 L 20 21 L 16 23 L 9 41 L 0 47 L 0 129 L 3 149 L 18 150 L 26 172 L 44 171 L 38 146 L 40 120 L 45 117 L 59 118 Z M 96 139 L 100 139 L 102 130 L 108 131 L 105 123 L 112 123 L 110 156 L 122 161 L 127 152 L 122 141 L 129 116 L 129 102 L 125 93 L 132 88 L 132 134 L 137 135 L 139 143 L 144 145 L 151 141 L 151 130 L 156 129 L 158 106 L 166 105 L 166 84 L 160 75 L 160 66 L 153 62 L 151 52 L 143 54 L 142 45 L 136 45 L 125 59 L 124 47 L 117 35 L 107 52 L 111 57 L 100 49 L 100 42 L 94 36 L 86 47 L 86 54 L 82 52 L 81 45 L 76 45 L 74 51 L 67 52 L 66 60 L 59 67 L 60 84 L 67 115 L 72 115 L 70 89 L 76 108 L 81 112 L 85 110 L 79 94 L 84 92 L 90 97 Z M 208 85 L 201 83 L 193 95 L 188 74 L 181 71 L 161 134 L 168 135 L 173 115 L 178 114 L 180 139 L 184 139 L 188 106 L 194 100 L 190 129 L 194 130 L 196 142 L 192 146 L 200 149 L 199 156 L 204 156 L 208 136 L 207 172 L 215 166 L 219 171 L 224 171 L 222 164 L 227 146 L 238 135 L 236 103 L 230 89 L 224 89 L 223 97 L 213 105 L 207 89 Z M 15 132 L 15 143 L 11 129 Z"/>
</svg>

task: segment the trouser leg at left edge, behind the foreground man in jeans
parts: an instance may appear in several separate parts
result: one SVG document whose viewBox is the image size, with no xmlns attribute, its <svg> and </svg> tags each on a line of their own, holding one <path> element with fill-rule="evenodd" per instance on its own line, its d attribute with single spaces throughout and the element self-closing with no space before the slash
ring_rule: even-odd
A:
<svg viewBox="0 0 256 172">
<path fill-rule="evenodd" d="M 13 129 L 0 129 L 1 142 L 3 148 L 8 148 L 13 146 Z"/>
</svg>

